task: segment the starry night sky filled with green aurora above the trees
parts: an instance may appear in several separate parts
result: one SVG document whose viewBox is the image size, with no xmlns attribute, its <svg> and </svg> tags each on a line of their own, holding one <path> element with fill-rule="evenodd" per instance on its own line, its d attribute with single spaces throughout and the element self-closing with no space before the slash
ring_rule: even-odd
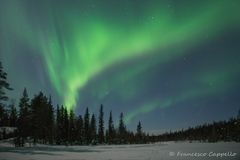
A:
<svg viewBox="0 0 240 160">
<path fill-rule="evenodd" d="M 0 61 L 14 88 L 130 129 L 187 128 L 240 109 L 238 0 L 0 0 Z"/>
</svg>

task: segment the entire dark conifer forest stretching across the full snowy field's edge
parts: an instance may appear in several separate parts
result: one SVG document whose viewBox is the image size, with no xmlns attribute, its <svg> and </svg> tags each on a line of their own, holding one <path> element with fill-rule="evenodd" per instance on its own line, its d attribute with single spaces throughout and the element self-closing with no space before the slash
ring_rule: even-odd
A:
<svg viewBox="0 0 240 160">
<path fill-rule="evenodd" d="M 170 131 L 160 135 L 150 135 L 142 129 L 139 121 L 136 130 L 130 131 L 124 122 L 124 113 L 119 114 L 118 125 L 114 125 L 112 112 L 105 113 L 104 105 L 99 105 L 99 113 L 77 115 L 63 105 L 54 106 L 51 96 L 39 92 L 29 97 L 23 90 L 19 104 L 8 103 L 7 92 L 12 88 L 7 73 L 0 62 L 0 139 L 14 138 L 15 146 L 26 143 L 34 145 L 97 145 L 97 144 L 142 144 L 159 141 L 236 141 L 240 142 L 240 111 L 226 121 Z M 105 122 L 105 117 L 108 121 Z M 156 122 L 159 123 L 159 122 Z M 7 132 L 12 128 L 13 132 Z"/>
</svg>

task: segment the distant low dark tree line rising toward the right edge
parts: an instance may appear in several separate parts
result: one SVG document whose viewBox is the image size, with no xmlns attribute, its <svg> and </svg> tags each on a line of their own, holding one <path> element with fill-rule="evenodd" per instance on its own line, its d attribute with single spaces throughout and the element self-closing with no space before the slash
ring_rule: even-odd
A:
<svg viewBox="0 0 240 160">
<path fill-rule="evenodd" d="M 161 135 L 151 136 L 151 142 L 158 141 L 235 141 L 240 142 L 240 111 L 237 117 L 227 121 L 213 122 L 196 127 L 189 127 L 174 132 L 167 132 Z"/>
</svg>

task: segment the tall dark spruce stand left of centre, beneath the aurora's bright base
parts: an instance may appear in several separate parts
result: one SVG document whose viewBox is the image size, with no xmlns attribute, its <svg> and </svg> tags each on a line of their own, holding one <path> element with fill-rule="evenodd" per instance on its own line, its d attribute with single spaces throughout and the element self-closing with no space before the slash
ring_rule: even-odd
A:
<svg viewBox="0 0 240 160">
<path fill-rule="evenodd" d="M 25 142 L 57 145 L 144 143 L 141 122 L 136 133 L 128 131 L 123 113 L 120 114 L 119 126 L 115 128 L 110 112 L 105 129 L 103 105 L 100 106 L 98 119 L 94 113 L 90 114 L 88 108 L 83 116 L 76 116 L 73 110 L 64 106 L 57 105 L 54 110 L 51 97 L 42 92 L 30 100 L 24 89 L 19 111 L 12 106 L 10 113 L 14 116 L 6 116 L 8 118 L 3 125 L 17 128 L 14 133 L 16 146 L 24 146 Z"/>
</svg>

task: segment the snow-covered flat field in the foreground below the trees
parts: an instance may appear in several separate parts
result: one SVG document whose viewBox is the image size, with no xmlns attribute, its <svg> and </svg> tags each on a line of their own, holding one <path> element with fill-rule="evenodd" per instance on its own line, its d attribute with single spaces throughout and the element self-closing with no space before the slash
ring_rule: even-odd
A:
<svg viewBox="0 0 240 160">
<path fill-rule="evenodd" d="M 0 160 L 240 160 L 239 154 L 240 143 L 234 142 L 25 148 L 0 143 Z"/>
</svg>

